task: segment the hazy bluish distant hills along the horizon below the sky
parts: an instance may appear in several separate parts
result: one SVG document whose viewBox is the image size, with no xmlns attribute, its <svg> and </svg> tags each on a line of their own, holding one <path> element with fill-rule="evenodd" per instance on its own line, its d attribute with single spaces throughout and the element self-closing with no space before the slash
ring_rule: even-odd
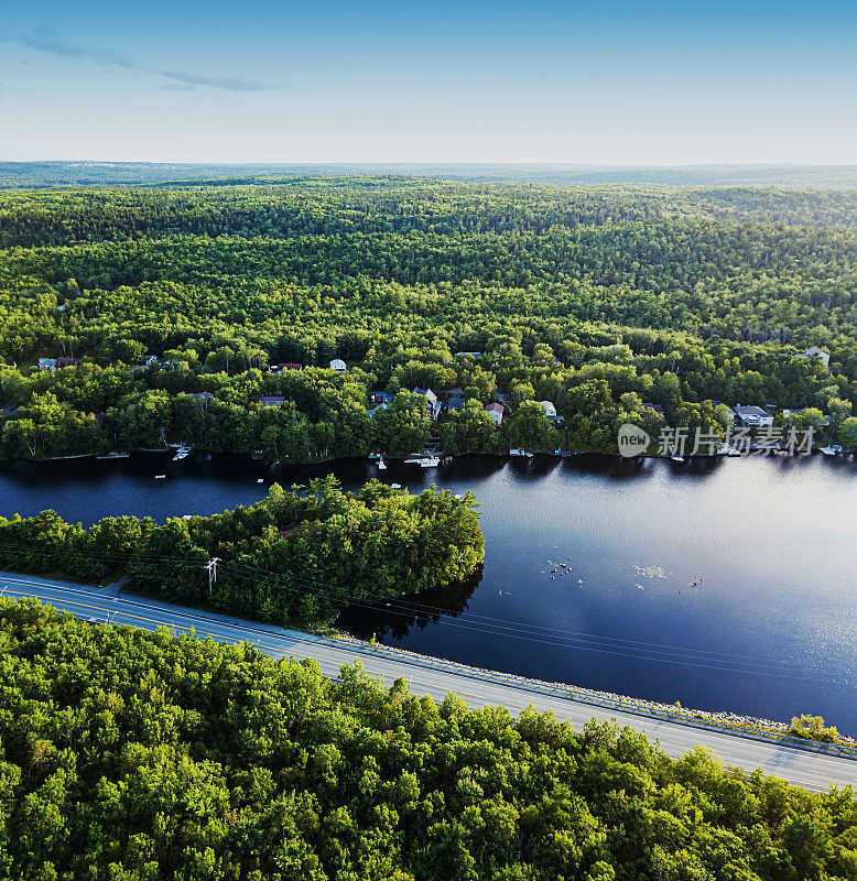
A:
<svg viewBox="0 0 857 881">
<path fill-rule="evenodd" d="M 327 175 L 394 175 L 482 184 L 660 184 L 857 188 L 857 165 L 683 165 L 621 167 L 544 164 L 180 164 L 156 162 L 0 162 L 0 188 L 286 183 Z"/>
</svg>

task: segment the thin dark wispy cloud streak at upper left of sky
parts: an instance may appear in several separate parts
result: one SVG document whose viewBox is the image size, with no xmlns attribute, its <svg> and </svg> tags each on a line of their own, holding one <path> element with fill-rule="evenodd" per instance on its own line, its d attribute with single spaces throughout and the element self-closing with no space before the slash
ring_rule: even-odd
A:
<svg viewBox="0 0 857 881">
<path fill-rule="evenodd" d="M 237 76 L 206 76 L 191 70 L 165 70 L 160 67 L 141 64 L 140 62 L 120 55 L 117 52 L 91 46 L 77 46 L 62 40 L 56 31 L 50 26 L 42 26 L 32 34 L 13 34 L 0 36 L 0 42 L 13 41 L 21 43 L 35 52 L 44 52 L 57 58 L 70 58 L 91 62 L 100 67 L 113 67 L 121 70 L 131 70 L 169 80 L 171 89 L 175 91 L 196 88 L 218 89 L 220 91 L 271 91 L 282 86 L 273 83 L 261 83 L 256 79 L 243 79 Z"/>
</svg>

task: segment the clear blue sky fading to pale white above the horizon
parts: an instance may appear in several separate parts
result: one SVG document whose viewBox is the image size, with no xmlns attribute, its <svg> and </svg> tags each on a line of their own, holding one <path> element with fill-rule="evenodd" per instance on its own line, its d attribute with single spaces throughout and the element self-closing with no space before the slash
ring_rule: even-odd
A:
<svg viewBox="0 0 857 881">
<path fill-rule="evenodd" d="M 857 1 L 9 3 L 0 160 L 857 163 Z"/>
</svg>

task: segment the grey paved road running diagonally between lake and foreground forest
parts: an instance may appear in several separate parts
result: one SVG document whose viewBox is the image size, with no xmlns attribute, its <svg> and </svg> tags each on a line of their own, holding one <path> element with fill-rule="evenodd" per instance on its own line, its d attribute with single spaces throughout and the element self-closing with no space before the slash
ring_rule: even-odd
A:
<svg viewBox="0 0 857 881">
<path fill-rule="evenodd" d="M 752 771 L 761 768 L 807 790 L 820 791 L 828 784 L 839 786 L 857 783 L 857 761 L 847 758 L 806 752 L 787 746 L 737 737 L 728 732 L 693 728 L 680 722 L 650 719 L 633 713 L 598 707 L 563 695 L 540 694 L 524 686 L 493 682 L 480 677 L 467 667 L 432 667 L 431 662 L 409 662 L 408 656 L 390 657 L 362 651 L 358 645 L 337 643 L 299 631 L 245 621 L 211 612 L 198 612 L 180 606 L 120 595 L 116 587 L 82 587 L 30 576 L 0 573 L 0 590 L 9 597 L 36 597 L 57 609 L 78 616 L 133 624 L 150 630 L 169 627 L 176 632 L 192 628 L 199 637 L 210 635 L 220 642 L 252 642 L 273 657 L 314 657 L 325 675 L 336 676 L 343 664 L 356 657 L 373 675 L 383 676 L 388 684 L 397 677 L 410 683 L 412 693 L 427 694 L 442 700 L 447 693 L 460 695 L 470 706 L 501 704 L 513 715 L 533 704 L 536 709 L 553 710 L 558 719 L 568 719 L 581 728 L 590 718 L 615 718 L 620 725 L 642 731 L 658 740 L 669 755 L 677 758 L 701 743 L 712 749 L 726 763 Z"/>
</svg>

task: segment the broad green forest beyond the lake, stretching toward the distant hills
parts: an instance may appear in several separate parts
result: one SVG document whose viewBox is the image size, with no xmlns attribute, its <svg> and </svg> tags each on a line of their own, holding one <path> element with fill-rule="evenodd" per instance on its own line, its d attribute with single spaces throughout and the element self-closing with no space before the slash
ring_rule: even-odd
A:
<svg viewBox="0 0 857 881">
<path fill-rule="evenodd" d="M 612 452 L 623 422 L 722 433 L 716 402 L 809 407 L 855 447 L 856 295 L 849 191 L 389 176 L 8 191 L 0 456 Z M 799 357 L 811 347 L 829 365 Z M 435 423 L 416 388 L 467 405 Z M 370 416 L 371 392 L 391 400 Z M 500 426 L 485 410 L 498 395 Z"/>
</svg>

